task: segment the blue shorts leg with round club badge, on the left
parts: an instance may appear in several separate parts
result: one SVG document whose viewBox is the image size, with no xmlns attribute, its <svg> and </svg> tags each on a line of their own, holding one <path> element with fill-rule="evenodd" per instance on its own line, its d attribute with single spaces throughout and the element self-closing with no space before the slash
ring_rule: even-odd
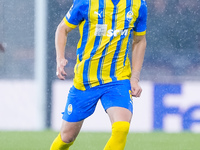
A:
<svg viewBox="0 0 200 150">
<path fill-rule="evenodd" d="M 63 120 L 79 122 L 92 115 L 100 98 L 99 93 L 98 89 L 81 91 L 73 86 L 68 94 Z"/>
</svg>

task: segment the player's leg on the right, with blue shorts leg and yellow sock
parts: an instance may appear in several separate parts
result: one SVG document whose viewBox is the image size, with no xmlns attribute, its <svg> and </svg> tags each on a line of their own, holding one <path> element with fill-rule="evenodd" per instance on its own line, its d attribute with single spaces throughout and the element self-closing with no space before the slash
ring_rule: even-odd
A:
<svg viewBox="0 0 200 150">
<path fill-rule="evenodd" d="M 112 123 L 112 134 L 104 150 L 124 150 L 133 112 L 130 81 L 117 81 L 108 86 L 101 102 Z"/>
</svg>

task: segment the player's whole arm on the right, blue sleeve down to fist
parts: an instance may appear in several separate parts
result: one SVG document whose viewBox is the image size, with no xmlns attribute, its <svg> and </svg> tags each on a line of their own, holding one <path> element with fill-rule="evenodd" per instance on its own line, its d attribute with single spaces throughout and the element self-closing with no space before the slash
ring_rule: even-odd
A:
<svg viewBox="0 0 200 150">
<path fill-rule="evenodd" d="M 139 17 L 134 24 L 135 27 L 132 44 L 132 73 L 130 81 L 131 92 L 134 97 L 140 97 L 142 92 L 142 88 L 139 85 L 139 80 L 146 49 L 146 22 L 147 5 L 145 0 L 141 0 Z"/>
</svg>

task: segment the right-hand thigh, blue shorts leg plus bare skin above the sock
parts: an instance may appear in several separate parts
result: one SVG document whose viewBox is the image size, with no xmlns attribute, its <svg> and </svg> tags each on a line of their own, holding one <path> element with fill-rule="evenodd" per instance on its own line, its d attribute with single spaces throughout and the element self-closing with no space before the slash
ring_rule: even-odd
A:
<svg viewBox="0 0 200 150">
<path fill-rule="evenodd" d="M 101 98 L 101 103 L 111 122 L 131 121 L 133 102 L 129 80 L 113 83 Z"/>
</svg>

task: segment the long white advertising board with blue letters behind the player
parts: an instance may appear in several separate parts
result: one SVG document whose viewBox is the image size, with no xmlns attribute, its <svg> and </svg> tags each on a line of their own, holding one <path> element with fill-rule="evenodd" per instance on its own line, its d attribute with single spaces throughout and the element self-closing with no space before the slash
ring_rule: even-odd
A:
<svg viewBox="0 0 200 150">
<path fill-rule="evenodd" d="M 72 80 L 56 80 L 52 86 L 52 129 L 59 130 Z M 200 132 L 200 82 L 153 83 L 141 81 L 140 98 L 133 98 L 132 132 Z M 81 95 L 80 95 L 81 96 Z M 0 81 L 0 130 L 41 130 L 45 108 L 37 99 L 31 80 Z M 72 110 L 73 111 L 73 110 Z M 110 131 L 101 103 L 84 121 L 82 131 Z"/>
</svg>

